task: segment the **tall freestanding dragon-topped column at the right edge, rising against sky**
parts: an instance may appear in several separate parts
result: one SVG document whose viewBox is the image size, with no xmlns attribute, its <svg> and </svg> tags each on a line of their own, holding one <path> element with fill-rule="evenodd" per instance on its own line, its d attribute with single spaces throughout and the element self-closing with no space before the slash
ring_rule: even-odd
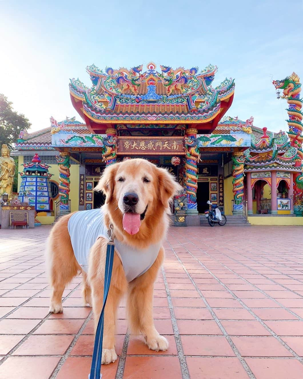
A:
<svg viewBox="0 0 303 379">
<path fill-rule="evenodd" d="M 291 146 L 296 147 L 298 149 L 298 158 L 295 162 L 295 166 L 301 166 L 303 170 L 302 165 L 302 159 L 303 159 L 303 150 L 302 150 L 302 143 L 303 143 L 303 124 L 302 124 L 302 118 L 303 114 L 301 112 L 302 108 L 302 99 L 300 99 L 300 92 L 301 92 L 301 83 L 300 78 L 298 77 L 295 72 L 292 73 L 291 76 L 286 77 L 283 80 L 274 80 L 273 85 L 276 89 L 281 88 L 283 89 L 283 95 L 281 96 L 282 99 L 286 99 L 288 103 L 288 117 L 289 119 L 286 120 L 289 132 L 287 133 L 289 136 L 289 140 L 291 142 Z M 303 201 L 303 172 L 294 174 L 294 208 L 298 208 L 299 205 L 301 206 L 301 203 Z"/>
</svg>

